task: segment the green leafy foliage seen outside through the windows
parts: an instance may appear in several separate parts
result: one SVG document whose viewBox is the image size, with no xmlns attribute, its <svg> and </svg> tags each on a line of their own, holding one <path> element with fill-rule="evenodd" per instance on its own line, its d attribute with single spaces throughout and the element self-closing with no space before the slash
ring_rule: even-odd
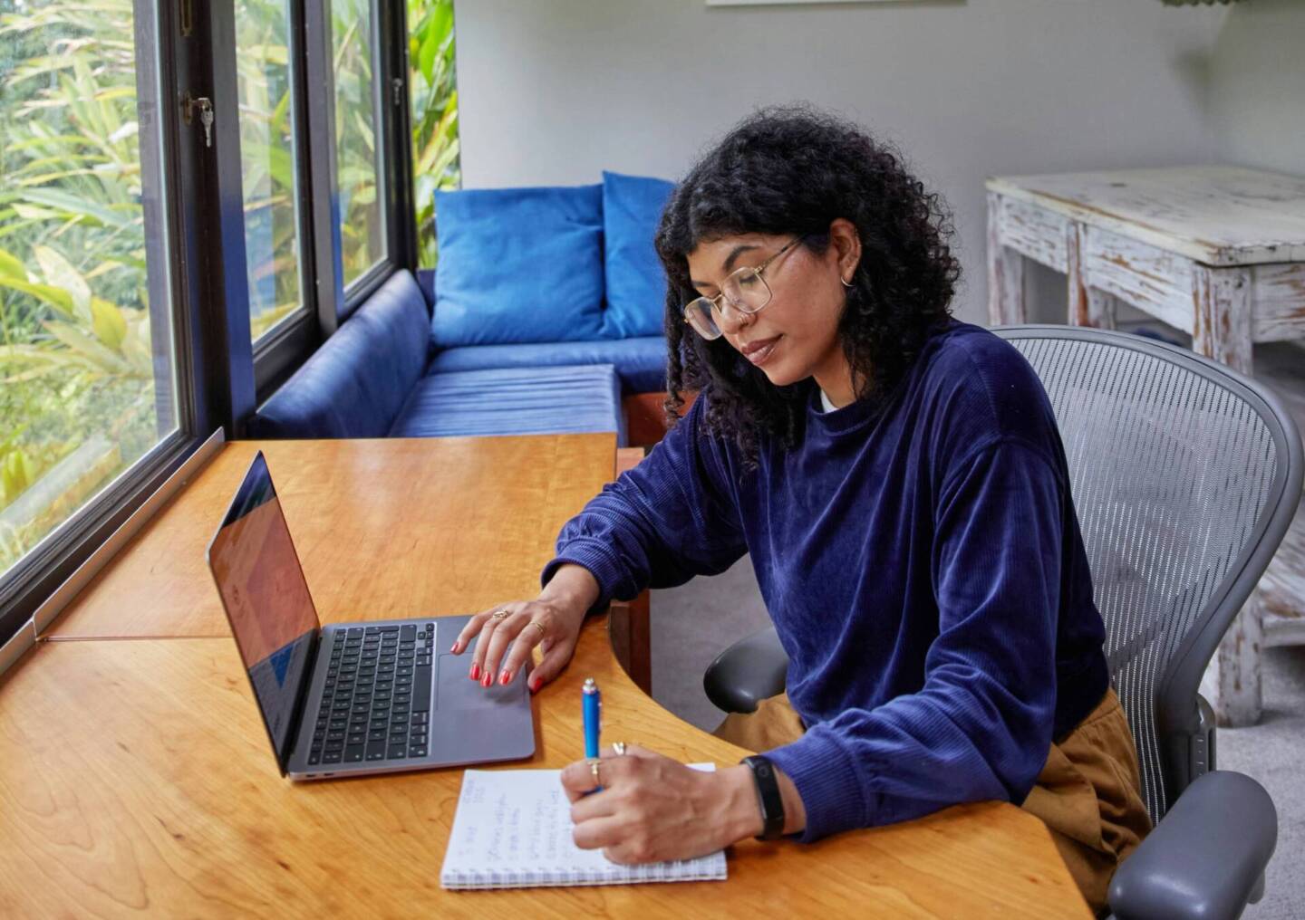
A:
<svg viewBox="0 0 1305 920">
<path fill-rule="evenodd" d="M 268 23 L 283 16 L 273 0 L 238 7 Z M 337 9 L 360 16 L 367 5 L 345 0 Z M 159 435 L 132 14 L 132 0 L 0 0 L 0 573 Z M 333 18 L 345 108 L 337 124 L 356 126 L 350 100 L 361 106 L 369 93 L 371 61 L 350 38 L 361 23 Z M 453 3 L 408 0 L 407 21 L 415 201 L 429 267 L 433 192 L 459 184 Z M 266 126 L 248 145 L 241 138 L 247 222 L 296 194 L 288 83 L 268 76 L 288 60 L 283 35 L 241 34 L 236 50 L 243 86 L 262 87 L 257 98 L 243 94 L 241 122 Z M 361 168 L 375 163 L 375 138 L 369 128 L 351 137 L 339 162 L 347 278 L 371 265 L 364 228 L 377 232 L 363 216 L 377 201 L 375 169 Z M 262 237 L 269 245 L 249 259 L 252 285 L 275 278 L 271 309 L 252 318 L 256 338 L 299 300 L 294 228 L 274 220 Z M 170 338 L 167 328 L 153 335 Z M 5 521 L 7 508 L 89 446 L 98 452 L 39 520 Z"/>
</svg>

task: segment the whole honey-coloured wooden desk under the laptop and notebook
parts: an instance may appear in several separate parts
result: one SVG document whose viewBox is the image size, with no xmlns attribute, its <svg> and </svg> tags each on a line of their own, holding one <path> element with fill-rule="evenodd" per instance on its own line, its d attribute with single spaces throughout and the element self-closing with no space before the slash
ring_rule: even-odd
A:
<svg viewBox="0 0 1305 920">
<path fill-rule="evenodd" d="M 612 476 L 609 438 L 606 465 L 596 455 L 582 460 L 589 456 L 583 442 L 569 440 L 574 453 L 566 457 L 565 439 L 548 442 L 536 444 L 543 461 L 519 453 L 497 469 L 508 483 L 500 487 L 521 485 L 522 504 L 515 513 L 495 504 L 499 558 L 475 560 L 491 588 L 444 571 L 442 593 L 431 586 L 424 556 L 405 547 L 411 539 L 428 546 L 428 533 L 476 539 L 468 523 L 479 524 L 483 508 L 452 498 L 441 504 L 442 474 L 422 473 L 450 446 L 395 446 L 393 465 L 372 470 L 368 496 L 377 516 L 365 520 L 329 512 L 342 499 L 329 487 L 335 473 L 326 459 L 345 451 L 351 464 L 361 463 L 352 453 L 361 446 L 268 446 L 287 506 L 299 506 L 291 529 L 316 556 L 309 582 L 318 606 L 342 612 L 339 594 L 347 594 L 356 612 L 388 616 L 425 612 L 437 597 L 441 609 L 458 611 L 484 606 L 491 592 L 499 598 L 518 585 L 532 588 L 553 536 L 536 547 L 530 542 L 535 530 Z M 87 589 L 76 611 L 84 629 L 111 624 L 97 618 L 107 616 L 102 611 L 112 611 L 114 596 L 123 592 L 147 607 L 130 611 L 137 635 L 176 624 L 209 628 L 202 616 L 175 620 L 181 605 L 170 596 L 213 592 L 207 572 L 179 575 L 194 568 L 189 559 L 170 554 L 170 564 L 159 564 L 146 556 L 161 545 L 202 549 L 234 489 L 232 464 L 243 469 L 240 457 L 251 450 L 227 447 L 230 456 L 198 477 L 114 572 Z M 290 453 L 278 464 L 283 450 Z M 458 450 L 472 463 L 499 447 L 484 442 Z M 291 455 L 301 463 L 284 461 Z M 532 473 L 540 463 L 555 465 Z M 540 482 L 553 483 L 545 490 L 553 498 L 543 510 L 527 507 L 539 499 Z M 392 515 L 390 539 L 407 555 L 382 567 L 384 554 L 359 546 L 369 546 L 384 513 Z M 470 517 L 459 528 L 453 513 Z M 155 542 L 159 534 L 171 543 Z M 342 549 L 318 545 L 331 539 Z M 480 551 L 487 551 L 483 545 Z M 454 555 L 455 564 L 472 564 Z M 329 571 L 331 559 L 347 571 Z M 144 584 L 124 582 L 129 572 Z M 361 586 L 354 581 L 359 576 Z M 151 618 L 151 610 L 158 615 Z M 611 653 L 603 618 L 595 618 L 572 666 L 534 700 L 539 749 L 529 765 L 557 768 L 582 755 L 577 700 L 585 676 L 603 685 L 608 739 L 683 760 L 731 764 L 743 753 L 638 691 Z M 184 705 L 177 688 L 185 689 Z M 43 641 L 0 679 L 0 916 L 774 916 L 868 906 L 877 915 L 908 917 L 1088 916 L 1041 822 L 996 803 L 814 846 L 745 842 L 731 852 L 727 882 L 444 891 L 438 870 L 462 771 L 298 786 L 282 779 L 230 637 Z"/>
</svg>

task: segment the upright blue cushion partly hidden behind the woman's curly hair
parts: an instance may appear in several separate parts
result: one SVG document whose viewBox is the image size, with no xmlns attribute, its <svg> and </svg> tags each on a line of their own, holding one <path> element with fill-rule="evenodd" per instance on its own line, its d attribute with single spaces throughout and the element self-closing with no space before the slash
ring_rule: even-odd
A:
<svg viewBox="0 0 1305 920">
<path fill-rule="evenodd" d="M 607 339 L 662 335 L 666 272 L 652 237 L 673 188 L 664 179 L 603 173 L 607 278 L 603 336 Z"/>
</svg>

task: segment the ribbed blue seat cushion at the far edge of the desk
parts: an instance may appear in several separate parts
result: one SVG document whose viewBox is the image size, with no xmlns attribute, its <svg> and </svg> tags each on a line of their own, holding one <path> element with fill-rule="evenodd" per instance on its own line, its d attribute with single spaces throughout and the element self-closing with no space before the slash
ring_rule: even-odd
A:
<svg viewBox="0 0 1305 920">
<path fill-rule="evenodd" d="M 616 431 L 625 444 L 621 384 L 611 365 L 429 374 L 416 384 L 392 438 Z"/>
</svg>

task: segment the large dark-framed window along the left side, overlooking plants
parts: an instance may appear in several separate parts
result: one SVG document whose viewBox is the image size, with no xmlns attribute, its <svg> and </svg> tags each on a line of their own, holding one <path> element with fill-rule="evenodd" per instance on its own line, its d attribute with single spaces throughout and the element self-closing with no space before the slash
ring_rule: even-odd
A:
<svg viewBox="0 0 1305 920">
<path fill-rule="evenodd" d="M 416 266 L 403 16 L 0 0 L 0 642 Z"/>
</svg>

